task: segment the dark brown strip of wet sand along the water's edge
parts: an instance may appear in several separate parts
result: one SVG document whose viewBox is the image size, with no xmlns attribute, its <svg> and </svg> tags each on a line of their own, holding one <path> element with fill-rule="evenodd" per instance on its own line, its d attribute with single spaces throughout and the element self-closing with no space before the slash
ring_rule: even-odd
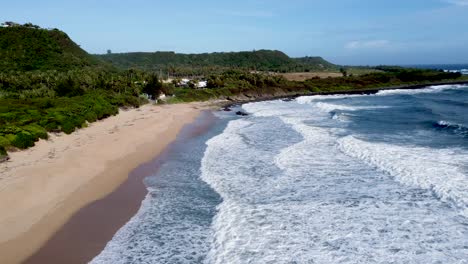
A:
<svg viewBox="0 0 468 264">
<path fill-rule="evenodd" d="M 148 194 L 144 179 L 159 171 L 177 145 L 204 133 L 213 123 L 213 118 L 211 112 L 202 111 L 160 154 L 130 172 L 128 179 L 116 190 L 81 208 L 24 263 L 79 264 L 91 261 L 140 210 Z"/>
</svg>

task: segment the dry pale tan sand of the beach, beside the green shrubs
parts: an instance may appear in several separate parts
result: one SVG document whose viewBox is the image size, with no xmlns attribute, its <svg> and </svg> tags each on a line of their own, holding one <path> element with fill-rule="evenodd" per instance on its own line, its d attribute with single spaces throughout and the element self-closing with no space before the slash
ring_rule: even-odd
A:
<svg viewBox="0 0 468 264">
<path fill-rule="evenodd" d="M 77 211 L 161 153 L 203 108 L 146 105 L 11 153 L 0 164 L 0 263 L 36 252 Z"/>
</svg>

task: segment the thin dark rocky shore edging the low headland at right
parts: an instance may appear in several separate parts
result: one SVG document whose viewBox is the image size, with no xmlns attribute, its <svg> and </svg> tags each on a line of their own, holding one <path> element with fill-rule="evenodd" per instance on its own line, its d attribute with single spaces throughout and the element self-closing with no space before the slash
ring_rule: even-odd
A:
<svg viewBox="0 0 468 264">
<path fill-rule="evenodd" d="M 310 92 L 310 93 L 285 93 L 281 95 L 260 95 L 260 96 L 247 96 L 245 94 L 241 96 L 233 96 L 228 97 L 222 104 L 224 109 L 229 109 L 232 106 L 242 105 L 246 103 L 255 103 L 255 102 L 263 102 L 263 101 L 271 101 L 271 100 L 280 100 L 280 99 L 295 99 L 300 96 L 315 96 L 315 95 L 346 95 L 346 94 L 376 94 L 379 91 L 384 90 L 416 90 L 416 89 L 423 89 L 428 86 L 438 86 L 438 85 L 468 85 L 468 80 L 463 81 L 444 81 L 444 82 L 432 82 L 432 83 L 424 83 L 424 84 L 408 84 L 408 85 L 398 85 L 398 86 L 386 86 L 386 87 L 378 87 L 378 88 L 365 88 L 365 89 L 355 89 L 355 90 L 343 90 L 343 91 L 331 91 L 331 92 Z M 245 99 L 247 98 L 247 99 Z"/>
</svg>

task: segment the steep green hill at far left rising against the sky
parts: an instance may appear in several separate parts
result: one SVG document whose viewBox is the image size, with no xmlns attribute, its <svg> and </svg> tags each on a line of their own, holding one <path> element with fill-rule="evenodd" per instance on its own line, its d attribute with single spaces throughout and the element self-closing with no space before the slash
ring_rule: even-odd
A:
<svg viewBox="0 0 468 264">
<path fill-rule="evenodd" d="M 101 64 L 64 32 L 32 24 L 0 27 L 0 58 L 1 72 L 64 71 Z"/>
</svg>

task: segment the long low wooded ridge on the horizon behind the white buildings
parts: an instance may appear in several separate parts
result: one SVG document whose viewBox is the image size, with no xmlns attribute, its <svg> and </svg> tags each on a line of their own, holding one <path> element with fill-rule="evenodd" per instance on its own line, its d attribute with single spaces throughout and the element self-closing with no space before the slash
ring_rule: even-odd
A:
<svg viewBox="0 0 468 264">
<path fill-rule="evenodd" d="M 321 57 L 292 59 L 283 52 L 274 50 L 203 54 L 134 52 L 96 56 L 121 69 L 162 71 L 171 76 L 207 75 L 229 69 L 274 72 L 337 70 L 337 66 Z"/>
</svg>

